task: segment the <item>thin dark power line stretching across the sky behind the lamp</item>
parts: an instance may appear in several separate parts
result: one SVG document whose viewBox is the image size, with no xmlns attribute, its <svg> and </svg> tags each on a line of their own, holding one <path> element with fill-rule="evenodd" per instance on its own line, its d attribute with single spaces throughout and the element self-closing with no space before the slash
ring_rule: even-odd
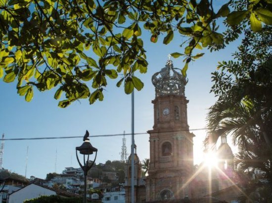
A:
<svg viewBox="0 0 272 203">
<path fill-rule="evenodd" d="M 179 131 L 162 131 L 158 133 L 169 133 L 169 132 L 181 132 L 181 131 L 201 131 L 208 130 L 208 128 L 197 128 L 197 129 L 189 129 L 189 130 L 179 130 Z M 135 133 L 134 135 L 146 135 L 148 133 Z M 132 135 L 131 133 L 127 134 L 110 134 L 110 135 L 90 135 L 90 137 L 110 137 L 110 136 L 123 136 L 123 135 Z M 58 137 L 29 137 L 29 138 L 4 138 L 2 140 L 37 140 L 37 139 L 69 139 L 69 138 L 82 138 L 83 135 L 80 136 L 58 136 Z"/>
</svg>

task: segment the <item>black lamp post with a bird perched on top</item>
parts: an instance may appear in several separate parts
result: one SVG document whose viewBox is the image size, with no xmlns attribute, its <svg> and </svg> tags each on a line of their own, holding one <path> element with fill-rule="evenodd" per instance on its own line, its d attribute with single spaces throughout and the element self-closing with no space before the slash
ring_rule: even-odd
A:
<svg viewBox="0 0 272 203">
<path fill-rule="evenodd" d="M 96 154 L 97 154 L 97 149 L 91 145 L 90 139 L 88 137 L 89 137 L 89 132 L 86 131 L 86 134 L 83 137 L 83 141 L 84 141 L 83 144 L 79 147 L 76 147 L 77 160 L 78 160 L 78 163 L 79 163 L 81 169 L 83 169 L 83 171 L 84 171 L 83 203 L 86 203 L 86 199 L 87 199 L 87 174 L 88 174 L 88 171 L 91 169 L 92 165 L 94 164 L 95 159 L 96 159 Z M 80 160 L 78 158 L 78 151 L 80 154 L 84 155 L 83 156 L 83 162 L 84 162 L 83 165 L 80 163 Z M 93 154 L 93 152 L 95 152 L 95 157 L 94 157 L 93 162 L 91 163 L 91 166 L 89 166 L 88 165 L 89 164 L 89 156 L 90 156 L 90 154 Z M 86 156 L 87 156 L 87 161 L 86 161 Z"/>
</svg>

